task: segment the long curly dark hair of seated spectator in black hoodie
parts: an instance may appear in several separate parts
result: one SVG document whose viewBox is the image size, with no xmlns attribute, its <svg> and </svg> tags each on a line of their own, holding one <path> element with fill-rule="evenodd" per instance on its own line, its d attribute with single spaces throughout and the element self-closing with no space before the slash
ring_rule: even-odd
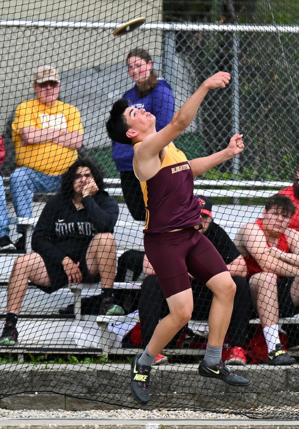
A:
<svg viewBox="0 0 299 429">
<path fill-rule="evenodd" d="M 100 167 L 92 163 L 90 160 L 77 160 L 69 169 L 62 175 L 61 178 L 61 192 L 66 198 L 72 198 L 74 195 L 74 181 L 76 171 L 80 167 L 88 167 L 94 177 L 94 181 L 100 191 L 104 189 L 103 172 Z"/>
</svg>

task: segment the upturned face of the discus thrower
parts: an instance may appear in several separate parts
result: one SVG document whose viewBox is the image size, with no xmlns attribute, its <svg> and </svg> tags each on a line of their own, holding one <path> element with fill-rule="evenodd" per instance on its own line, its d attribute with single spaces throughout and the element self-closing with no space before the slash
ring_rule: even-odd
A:
<svg viewBox="0 0 299 429">
<path fill-rule="evenodd" d="M 136 109 L 136 107 L 130 106 L 124 111 L 124 117 L 129 126 L 127 136 L 129 138 L 137 137 L 144 134 L 152 128 L 155 131 L 156 118 L 150 112 L 146 112 L 145 109 Z"/>
</svg>

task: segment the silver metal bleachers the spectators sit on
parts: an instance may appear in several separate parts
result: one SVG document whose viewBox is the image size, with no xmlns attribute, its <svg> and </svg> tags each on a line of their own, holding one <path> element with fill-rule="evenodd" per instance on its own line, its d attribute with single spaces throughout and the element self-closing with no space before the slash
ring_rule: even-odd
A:
<svg viewBox="0 0 299 429">
<path fill-rule="evenodd" d="M 4 181 L 7 192 L 8 179 Z M 251 218 L 257 218 L 263 206 L 263 199 L 276 193 L 279 189 L 287 187 L 290 182 L 261 182 L 261 181 L 213 181 L 196 180 L 194 182 L 194 193 L 202 194 L 216 199 L 216 209 L 213 215 L 218 224 L 220 224 L 230 235 L 232 239 L 236 235 L 242 223 Z M 127 209 L 123 204 L 120 181 L 118 179 L 106 179 L 106 190 L 109 191 L 120 204 L 120 218 L 115 227 L 115 239 L 118 245 L 118 255 L 127 249 L 143 249 L 143 224 L 136 222 L 128 215 Z M 36 195 L 36 198 L 45 199 L 46 196 Z M 246 200 L 250 205 L 238 204 Z M 257 201 L 259 199 L 259 201 Z M 219 200 L 221 201 L 219 203 Z M 223 203 L 222 203 L 223 201 Z M 237 207 L 237 208 L 235 208 Z M 41 209 L 42 207 L 40 207 Z M 40 211 L 39 211 L 40 212 Z M 123 215 L 122 215 L 123 214 Z M 27 228 L 27 251 L 30 251 L 30 236 L 35 223 L 35 219 L 23 219 L 22 223 Z M 13 260 L 18 256 L 16 253 L 0 254 L 0 305 L 2 320 L 5 313 L 6 287 Z M 124 283 L 115 282 L 115 289 L 139 290 L 140 282 L 132 282 L 130 279 Z M 122 347 L 121 344 L 115 347 L 111 344 L 111 330 L 109 327 L 119 323 L 133 323 L 138 321 L 136 315 L 130 316 L 82 316 L 81 299 L 82 296 L 93 295 L 100 292 L 99 284 L 72 284 L 70 287 L 63 288 L 50 296 L 44 294 L 35 287 L 29 287 L 25 296 L 21 317 L 18 323 L 20 331 L 20 341 L 18 346 L 1 348 L 0 353 L 9 351 L 22 356 L 24 353 L 88 353 L 108 356 L 108 354 L 130 355 L 136 353 L 138 349 L 132 347 Z M 74 302 L 74 315 L 69 317 L 60 315 L 58 310 Z M 259 320 L 251 320 L 251 323 L 258 323 Z M 207 323 L 207 321 L 202 321 Z M 280 320 L 280 323 L 299 323 L 299 319 L 291 318 Z M 0 326 L 2 328 L 2 326 Z M 74 338 L 68 334 L 70 329 L 78 331 L 88 330 L 97 331 L 97 346 L 77 345 Z M 89 344 L 89 343 L 88 343 Z M 190 354 L 200 355 L 204 350 L 197 349 L 167 349 L 169 354 Z"/>
</svg>

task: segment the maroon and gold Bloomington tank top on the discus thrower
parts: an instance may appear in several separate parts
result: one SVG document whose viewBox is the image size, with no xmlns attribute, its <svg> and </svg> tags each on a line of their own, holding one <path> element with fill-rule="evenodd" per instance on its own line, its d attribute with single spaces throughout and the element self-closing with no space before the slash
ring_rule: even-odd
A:
<svg viewBox="0 0 299 429">
<path fill-rule="evenodd" d="M 134 160 L 133 166 L 138 178 Z M 144 233 L 199 227 L 200 205 L 193 196 L 193 173 L 184 153 L 172 143 L 166 147 L 160 170 L 140 185 L 146 208 Z"/>
</svg>

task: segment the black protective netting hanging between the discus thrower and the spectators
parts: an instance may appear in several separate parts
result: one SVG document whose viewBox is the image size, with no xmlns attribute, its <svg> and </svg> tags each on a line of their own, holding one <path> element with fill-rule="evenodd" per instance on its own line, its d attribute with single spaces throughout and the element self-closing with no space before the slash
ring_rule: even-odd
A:
<svg viewBox="0 0 299 429">
<path fill-rule="evenodd" d="M 143 16 L 141 27 L 112 35 Z M 296 0 L 2 3 L 1 398 L 45 392 L 116 407 L 298 419 L 298 18 Z M 205 272 L 190 278 L 193 307 L 187 292 L 173 298 L 181 275 L 173 261 L 185 243 L 161 251 L 173 238 L 163 233 L 160 242 L 158 232 L 157 252 L 148 259 L 163 263 L 169 314 L 145 257 L 133 149 L 111 142 L 105 122 L 125 97 L 151 112 L 161 130 L 219 71 L 230 73 L 229 85 L 208 91 L 189 125 L 178 121 L 186 127 L 174 144 L 192 160 L 244 134 L 242 153 L 223 155 L 198 176 L 191 166 L 202 232 L 236 284 L 233 312 L 230 318 L 231 284 L 219 270 L 210 289 L 202 284 L 218 267 L 205 248 L 196 264 L 184 256 L 185 271 Z M 184 183 L 175 184 L 191 172 L 178 168 L 188 166 L 182 158 L 169 163 L 176 174 L 167 187 L 167 166 L 156 168 L 160 150 L 151 158 L 156 189 L 148 181 L 146 198 L 150 205 L 165 190 L 164 217 L 154 209 L 147 221 L 172 231 L 189 219 L 173 194 L 184 201 Z M 162 162 L 164 156 L 163 150 Z M 152 178 L 140 165 L 139 176 Z M 180 224 L 172 223 L 175 216 L 183 217 Z M 160 319 L 163 329 L 151 340 Z M 159 354 L 149 402 L 140 405 L 130 390 L 130 362 L 149 341 L 149 351 Z M 223 344 L 223 362 L 250 384 L 200 375 L 207 344 Z M 226 377 L 230 382 L 233 375 Z"/>
</svg>

